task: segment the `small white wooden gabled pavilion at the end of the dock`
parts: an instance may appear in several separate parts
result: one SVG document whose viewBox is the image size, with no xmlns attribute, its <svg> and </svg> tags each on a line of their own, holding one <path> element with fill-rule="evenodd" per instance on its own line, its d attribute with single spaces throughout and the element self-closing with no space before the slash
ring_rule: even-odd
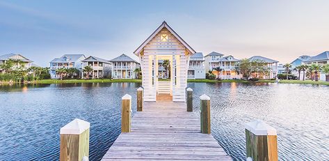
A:
<svg viewBox="0 0 329 161">
<path fill-rule="evenodd" d="M 195 54 L 172 28 L 163 22 L 134 52 L 141 60 L 144 101 L 156 101 L 157 95 L 172 95 L 175 102 L 185 102 L 189 58 Z M 159 60 L 170 61 L 170 81 L 159 82 Z"/>
</svg>

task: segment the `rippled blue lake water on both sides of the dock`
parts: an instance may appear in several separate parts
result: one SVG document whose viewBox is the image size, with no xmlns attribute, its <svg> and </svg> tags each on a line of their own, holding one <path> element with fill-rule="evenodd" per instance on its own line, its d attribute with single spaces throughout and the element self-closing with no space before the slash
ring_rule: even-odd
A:
<svg viewBox="0 0 329 161">
<path fill-rule="evenodd" d="M 0 87 L 0 160 L 58 160 L 59 129 L 90 122 L 90 160 L 120 134 L 121 97 L 136 111 L 138 83 Z M 329 160 L 329 86 L 189 83 L 211 98 L 211 132 L 234 160 L 246 160 L 244 123 L 262 119 L 278 130 L 280 160 Z"/>
</svg>

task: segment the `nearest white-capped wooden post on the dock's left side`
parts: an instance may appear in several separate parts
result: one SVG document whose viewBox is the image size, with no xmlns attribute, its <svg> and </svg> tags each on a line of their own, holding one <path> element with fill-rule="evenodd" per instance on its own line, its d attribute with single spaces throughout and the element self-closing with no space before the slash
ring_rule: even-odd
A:
<svg viewBox="0 0 329 161">
<path fill-rule="evenodd" d="M 90 123 L 75 118 L 60 130 L 60 160 L 86 160 L 89 157 Z"/>
</svg>

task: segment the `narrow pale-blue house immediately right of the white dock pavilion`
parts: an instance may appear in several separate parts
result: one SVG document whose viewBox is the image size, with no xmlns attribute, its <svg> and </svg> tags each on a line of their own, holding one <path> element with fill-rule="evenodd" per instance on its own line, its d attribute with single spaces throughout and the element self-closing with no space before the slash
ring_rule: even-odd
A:
<svg viewBox="0 0 329 161">
<path fill-rule="evenodd" d="M 202 52 L 197 52 L 190 57 L 188 63 L 187 79 L 205 79 L 204 57 Z"/>
</svg>

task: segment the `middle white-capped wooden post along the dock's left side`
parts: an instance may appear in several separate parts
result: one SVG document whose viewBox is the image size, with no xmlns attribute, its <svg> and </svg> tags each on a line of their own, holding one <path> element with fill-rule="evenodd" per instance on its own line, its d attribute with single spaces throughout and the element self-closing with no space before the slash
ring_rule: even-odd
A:
<svg viewBox="0 0 329 161">
<path fill-rule="evenodd" d="M 121 132 L 130 132 L 131 128 L 131 95 L 122 97 Z"/>
</svg>

